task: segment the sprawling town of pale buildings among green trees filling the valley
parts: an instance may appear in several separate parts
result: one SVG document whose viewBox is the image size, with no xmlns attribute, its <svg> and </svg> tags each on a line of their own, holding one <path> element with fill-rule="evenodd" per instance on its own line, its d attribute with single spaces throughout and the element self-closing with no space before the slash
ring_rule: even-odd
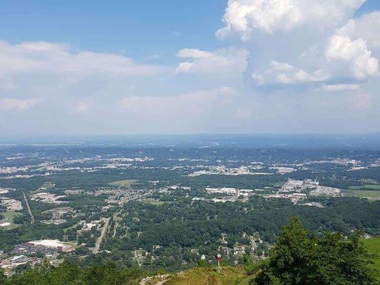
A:
<svg viewBox="0 0 380 285">
<path fill-rule="evenodd" d="M 178 266 L 211 262 L 215 249 L 231 264 L 241 263 L 245 254 L 265 259 L 279 230 L 273 222 L 277 208 L 334 216 L 330 199 L 365 199 L 369 208 L 380 199 L 380 177 L 371 176 L 380 167 L 374 155 L 329 153 L 321 159 L 299 152 L 291 160 L 277 150 L 265 150 L 264 156 L 262 150 L 247 155 L 204 148 L 127 147 L 122 154 L 74 150 L 61 155 L 54 148 L 6 149 L 1 155 L 0 267 L 6 274 L 44 259 L 60 264 L 97 254 L 120 258 L 120 251 L 125 253 L 120 262 L 141 268 L 158 268 L 174 257 Z M 46 158 L 36 160 L 37 152 Z M 206 234 L 207 240 L 189 233 L 170 242 L 162 231 L 168 228 L 177 237 L 179 229 L 171 227 L 181 228 L 179 220 L 223 225 Z M 237 227 L 239 222 L 250 226 Z M 345 227 L 352 226 L 346 222 Z M 371 237 L 377 230 L 369 226 L 365 234 Z"/>
</svg>

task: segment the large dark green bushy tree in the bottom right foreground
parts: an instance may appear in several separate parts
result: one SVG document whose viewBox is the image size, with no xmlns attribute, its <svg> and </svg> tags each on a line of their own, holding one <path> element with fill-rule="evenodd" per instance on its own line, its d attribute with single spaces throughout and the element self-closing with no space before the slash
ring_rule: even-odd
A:
<svg viewBox="0 0 380 285">
<path fill-rule="evenodd" d="M 377 284 L 374 271 L 368 266 L 371 254 L 360 237 L 360 232 L 348 238 L 331 232 L 310 237 L 299 219 L 293 218 L 283 227 L 279 241 L 251 284 Z"/>
</svg>

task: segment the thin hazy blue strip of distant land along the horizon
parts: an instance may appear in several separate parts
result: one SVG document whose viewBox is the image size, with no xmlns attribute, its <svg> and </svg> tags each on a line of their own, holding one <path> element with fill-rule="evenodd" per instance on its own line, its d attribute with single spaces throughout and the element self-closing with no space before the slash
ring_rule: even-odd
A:
<svg viewBox="0 0 380 285">
<path fill-rule="evenodd" d="M 380 133 L 370 134 L 192 134 L 1 137 L 0 147 L 190 147 L 340 148 L 378 150 Z"/>
</svg>

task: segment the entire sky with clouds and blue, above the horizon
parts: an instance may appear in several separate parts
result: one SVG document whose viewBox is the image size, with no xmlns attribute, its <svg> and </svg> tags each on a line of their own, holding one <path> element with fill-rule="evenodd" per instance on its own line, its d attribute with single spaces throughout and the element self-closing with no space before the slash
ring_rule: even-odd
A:
<svg viewBox="0 0 380 285">
<path fill-rule="evenodd" d="M 380 1 L 0 1 L 0 136 L 379 133 Z"/>
</svg>

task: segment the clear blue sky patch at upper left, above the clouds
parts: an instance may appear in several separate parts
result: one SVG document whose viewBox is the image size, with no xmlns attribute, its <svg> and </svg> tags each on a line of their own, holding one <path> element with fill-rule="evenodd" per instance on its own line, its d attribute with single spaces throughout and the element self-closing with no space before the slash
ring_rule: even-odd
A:
<svg viewBox="0 0 380 285">
<path fill-rule="evenodd" d="M 170 61 L 183 46 L 213 49 L 225 1 L 1 1 L 1 38 L 66 42 L 78 49 L 155 53 Z"/>
</svg>

